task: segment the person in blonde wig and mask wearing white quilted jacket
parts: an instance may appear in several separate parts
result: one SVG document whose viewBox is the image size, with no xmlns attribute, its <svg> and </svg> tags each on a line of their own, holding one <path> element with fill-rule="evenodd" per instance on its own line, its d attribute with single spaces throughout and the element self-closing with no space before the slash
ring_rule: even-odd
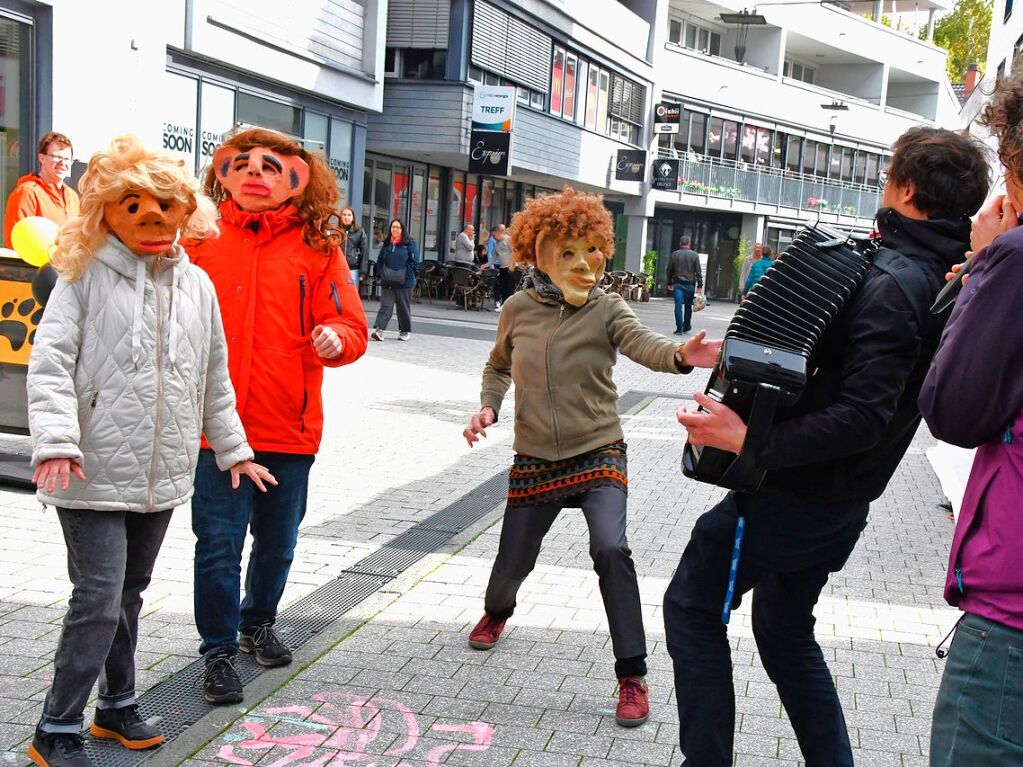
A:
<svg viewBox="0 0 1023 767">
<path fill-rule="evenodd" d="M 164 739 L 135 706 L 138 616 L 171 512 L 192 495 L 201 434 L 235 488 L 241 475 L 275 484 L 234 409 L 213 284 L 177 244 L 216 233 L 213 204 L 183 162 L 133 136 L 94 154 L 80 188 L 28 380 L 37 497 L 56 507 L 74 586 L 29 749 L 48 767 L 91 764 L 80 731 L 97 678 L 94 736 Z"/>
</svg>

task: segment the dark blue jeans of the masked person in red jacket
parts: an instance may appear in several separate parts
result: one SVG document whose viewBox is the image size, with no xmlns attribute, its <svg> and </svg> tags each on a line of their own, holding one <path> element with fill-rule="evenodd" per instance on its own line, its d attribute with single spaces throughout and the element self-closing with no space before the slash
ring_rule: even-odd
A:
<svg viewBox="0 0 1023 767">
<path fill-rule="evenodd" d="M 306 514 L 309 469 L 315 456 L 256 452 L 256 462 L 270 469 L 278 485 L 261 493 L 241 478 L 231 489 L 231 475 L 217 468 L 212 450 L 201 450 L 192 496 L 195 534 L 195 627 L 199 652 L 238 651 L 238 629 L 277 617 L 287 574 L 295 558 L 299 525 Z M 241 549 L 246 531 L 253 545 L 240 599 Z"/>
</svg>

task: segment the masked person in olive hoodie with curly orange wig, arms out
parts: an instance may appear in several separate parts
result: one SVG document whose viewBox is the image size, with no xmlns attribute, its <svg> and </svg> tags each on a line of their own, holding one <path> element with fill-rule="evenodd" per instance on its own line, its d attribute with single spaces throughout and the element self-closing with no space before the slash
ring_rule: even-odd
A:
<svg viewBox="0 0 1023 767">
<path fill-rule="evenodd" d="M 701 332 L 680 347 L 644 327 L 620 296 L 598 288 L 614 243 L 602 198 L 572 189 L 530 200 L 513 223 L 515 259 L 534 268 L 528 287 L 504 304 L 482 407 L 463 436 L 470 446 L 486 436 L 514 380 L 516 456 L 485 614 L 469 643 L 497 643 L 544 535 L 563 508 L 581 508 L 611 626 L 616 719 L 636 726 L 650 713 L 647 642 L 626 539 L 625 443 L 612 368 L 618 352 L 665 373 L 713 367 L 720 342 Z"/>
</svg>

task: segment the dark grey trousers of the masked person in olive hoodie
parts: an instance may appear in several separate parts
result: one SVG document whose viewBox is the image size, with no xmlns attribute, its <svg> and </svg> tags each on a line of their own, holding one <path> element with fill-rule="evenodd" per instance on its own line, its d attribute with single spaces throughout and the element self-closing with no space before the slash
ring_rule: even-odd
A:
<svg viewBox="0 0 1023 767">
<path fill-rule="evenodd" d="M 625 535 L 627 496 L 617 487 L 579 493 L 564 502 L 509 508 L 504 511 L 501 541 L 490 573 L 484 607 L 495 618 L 515 612 L 519 587 L 536 567 L 543 537 L 563 508 L 581 508 L 589 528 L 593 559 L 611 628 L 615 676 L 647 673 L 647 638 L 642 628 L 639 583 Z"/>
</svg>

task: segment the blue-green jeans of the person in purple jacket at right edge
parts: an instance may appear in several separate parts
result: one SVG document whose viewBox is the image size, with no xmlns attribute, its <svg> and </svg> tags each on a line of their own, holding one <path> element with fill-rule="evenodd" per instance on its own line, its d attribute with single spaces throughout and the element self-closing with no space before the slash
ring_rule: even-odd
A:
<svg viewBox="0 0 1023 767">
<path fill-rule="evenodd" d="M 1023 764 L 1023 631 L 967 614 L 945 660 L 931 767 Z"/>
</svg>

